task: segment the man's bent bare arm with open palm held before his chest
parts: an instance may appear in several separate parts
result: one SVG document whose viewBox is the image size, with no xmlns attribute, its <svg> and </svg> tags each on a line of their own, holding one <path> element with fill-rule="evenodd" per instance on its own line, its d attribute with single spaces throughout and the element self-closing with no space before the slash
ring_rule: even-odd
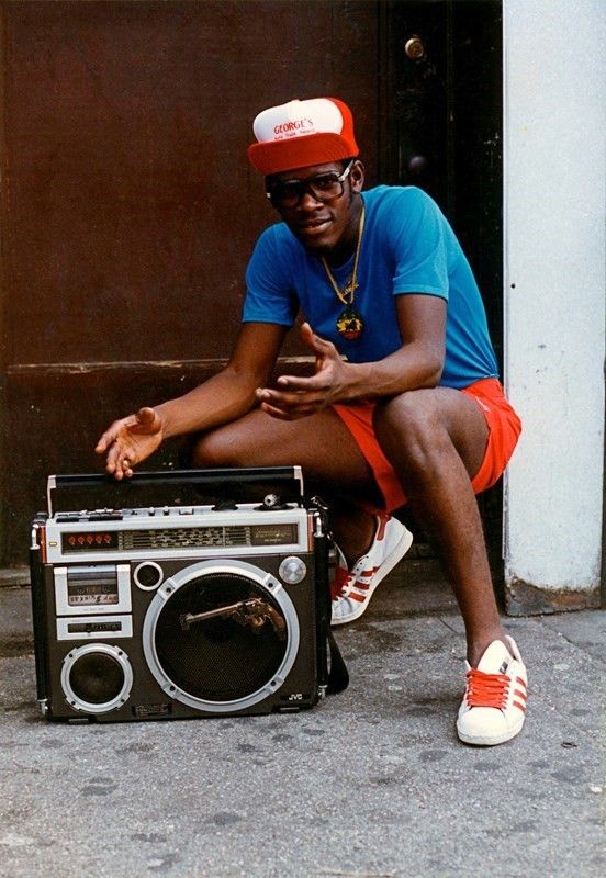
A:
<svg viewBox="0 0 606 878">
<path fill-rule="evenodd" d="M 396 299 L 402 347 L 372 363 L 348 363 L 330 341 L 304 326 L 303 338 L 316 354 L 312 378 L 281 375 L 277 389 L 262 387 L 257 397 L 265 412 L 284 420 L 312 415 L 332 403 L 354 403 L 435 387 L 444 368 L 446 301 L 411 294 Z"/>
</svg>

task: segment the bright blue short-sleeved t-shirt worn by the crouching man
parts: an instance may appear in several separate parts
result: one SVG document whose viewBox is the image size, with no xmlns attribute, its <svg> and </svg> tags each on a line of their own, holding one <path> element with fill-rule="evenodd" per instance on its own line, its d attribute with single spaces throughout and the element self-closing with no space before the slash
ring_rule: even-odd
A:
<svg viewBox="0 0 606 878">
<path fill-rule="evenodd" d="M 381 185 L 362 192 L 366 224 L 355 308 L 363 320 L 356 340 L 336 328 L 344 305 L 322 260 L 308 254 L 285 223 L 259 237 L 246 271 L 245 323 L 292 326 L 299 311 L 314 331 L 351 362 L 375 362 L 402 347 L 396 295 L 446 299 L 446 359 L 440 384 L 467 387 L 497 375 L 482 297 L 469 262 L 437 204 L 415 187 Z M 354 257 L 332 269 L 344 286 Z"/>
</svg>

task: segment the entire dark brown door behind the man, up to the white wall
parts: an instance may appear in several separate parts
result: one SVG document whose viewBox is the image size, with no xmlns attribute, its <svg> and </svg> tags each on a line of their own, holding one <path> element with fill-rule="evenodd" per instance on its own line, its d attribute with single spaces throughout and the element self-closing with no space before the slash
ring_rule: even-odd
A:
<svg viewBox="0 0 606 878">
<path fill-rule="evenodd" d="M 49 473 L 100 471 L 113 417 L 225 362 L 273 218 L 246 160 L 266 106 L 351 104 L 368 184 L 437 198 L 498 347 L 497 0 L 0 0 L 0 563 L 25 563 Z"/>
</svg>

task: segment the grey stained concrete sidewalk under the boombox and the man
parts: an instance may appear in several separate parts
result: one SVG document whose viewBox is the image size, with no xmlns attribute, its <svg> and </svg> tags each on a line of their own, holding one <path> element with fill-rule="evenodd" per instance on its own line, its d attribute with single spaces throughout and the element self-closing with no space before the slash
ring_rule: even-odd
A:
<svg viewBox="0 0 606 878">
<path fill-rule="evenodd" d="M 336 631 L 350 687 L 311 711 L 86 727 L 40 718 L 27 589 L 0 588 L 0 875 L 602 878 L 606 612 L 507 620 L 528 720 L 468 747 L 461 621 L 416 579 Z"/>
</svg>

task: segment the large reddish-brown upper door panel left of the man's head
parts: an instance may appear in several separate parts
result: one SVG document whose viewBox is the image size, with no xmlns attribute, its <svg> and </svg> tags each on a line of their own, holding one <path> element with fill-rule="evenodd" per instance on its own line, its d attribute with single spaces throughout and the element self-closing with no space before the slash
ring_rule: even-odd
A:
<svg viewBox="0 0 606 878">
<path fill-rule="evenodd" d="M 254 115 L 347 81 L 375 128 L 373 4 L 335 56 L 340 5 L 4 5 L 7 362 L 225 356 L 271 218 Z"/>
</svg>

